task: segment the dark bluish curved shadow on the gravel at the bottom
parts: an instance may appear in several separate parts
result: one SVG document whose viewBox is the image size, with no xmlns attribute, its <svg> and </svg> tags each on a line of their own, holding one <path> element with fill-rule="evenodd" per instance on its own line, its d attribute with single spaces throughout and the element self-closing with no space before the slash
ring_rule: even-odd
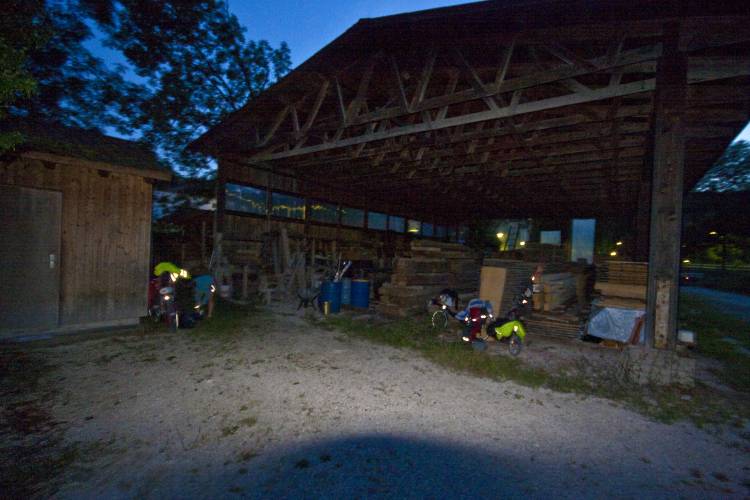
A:
<svg viewBox="0 0 750 500">
<path fill-rule="evenodd" d="M 467 425 L 467 432 L 470 426 Z M 493 443 L 497 445 L 497 443 Z M 534 450 L 469 448 L 457 443 L 367 434 L 251 454 L 212 466 L 134 478 L 127 492 L 77 492 L 139 498 L 601 498 L 718 493 L 703 481 L 662 480 L 647 463 L 558 463 Z M 550 450 L 547 450 L 549 452 Z M 559 459 L 559 455 L 557 456 Z M 166 465 L 166 464 L 163 464 Z M 210 469 L 210 470 L 209 470 Z M 674 481 L 674 482 L 670 482 Z M 695 489 L 697 487 L 697 489 Z M 724 489 L 724 494 L 740 492 Z"/>
</svg>

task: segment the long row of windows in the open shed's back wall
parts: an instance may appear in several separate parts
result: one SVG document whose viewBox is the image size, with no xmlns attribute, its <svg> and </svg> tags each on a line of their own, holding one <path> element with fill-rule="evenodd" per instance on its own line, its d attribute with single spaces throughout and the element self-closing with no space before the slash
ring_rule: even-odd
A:
<svg viewBox="0 0 750 500">
<path fill-rule="evenodd" d="M 225 184 L 225 207 L 233 212 L 267 215 L 267 191 L 262 188 L 240 184 Z M 361 208 L 338 207 L 332 203 L 310 200 L 305 206 L 304 198 L 291 194 L 271 192 L 271 215 L 287 219 L 308 220 L 324 224 L 349 227 L 367 227 L 378 231 L 409 233 L 428 238 L 462 241 L 465 229 L 435 225 L 406 219 L 382 212 L 365 212 Z"/>
</svg>

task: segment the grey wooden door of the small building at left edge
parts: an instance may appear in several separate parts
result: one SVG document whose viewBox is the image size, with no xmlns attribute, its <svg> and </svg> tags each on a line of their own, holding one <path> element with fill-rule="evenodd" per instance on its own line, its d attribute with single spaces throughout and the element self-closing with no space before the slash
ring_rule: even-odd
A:
<svg viewBox="0 0 750 500">
<path fill-rule="evenodd" d="M 58 326 L 62 193 L 0 186 L 0 335 Z"/>
</svg>

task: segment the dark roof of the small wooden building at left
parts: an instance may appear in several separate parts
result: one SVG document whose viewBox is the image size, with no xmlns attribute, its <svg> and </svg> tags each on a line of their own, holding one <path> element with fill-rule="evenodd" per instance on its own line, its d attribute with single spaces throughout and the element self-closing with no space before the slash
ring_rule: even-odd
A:
<svg viewBox="0 0 750 500">
<path fill-rule="evenodd" d="M 162 180 L 169 180 L 172 175 L 169 166 L 159 161 L 145 144 L 111 137 L 96 129 L 31 119 L 11 119 L 3 122 L 0 129 L 20 132 L 23 140 L 15 150 L 27 156 L 35 152 L 50 155 L 50 159 L 75 158 L 92 166 L 119 167 L 136 175 Z"/>
</svg>

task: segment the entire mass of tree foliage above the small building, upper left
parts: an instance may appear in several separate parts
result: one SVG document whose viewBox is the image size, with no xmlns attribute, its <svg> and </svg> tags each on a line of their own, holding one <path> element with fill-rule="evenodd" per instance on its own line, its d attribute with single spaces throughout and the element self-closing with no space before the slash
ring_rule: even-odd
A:
<svg viewBox="0 0 750 500">
<path fill-rule="evenodd" d="M 291 65 L 286 44 L 246 39 L 223 0 L 10 2 L 0 16 L 0 119 L 8 108 L 114 128 L 187 175 L 211 168 L 185 146 Z M 92 54 L 95 35 L 122 63 Z"/>
</svg>

